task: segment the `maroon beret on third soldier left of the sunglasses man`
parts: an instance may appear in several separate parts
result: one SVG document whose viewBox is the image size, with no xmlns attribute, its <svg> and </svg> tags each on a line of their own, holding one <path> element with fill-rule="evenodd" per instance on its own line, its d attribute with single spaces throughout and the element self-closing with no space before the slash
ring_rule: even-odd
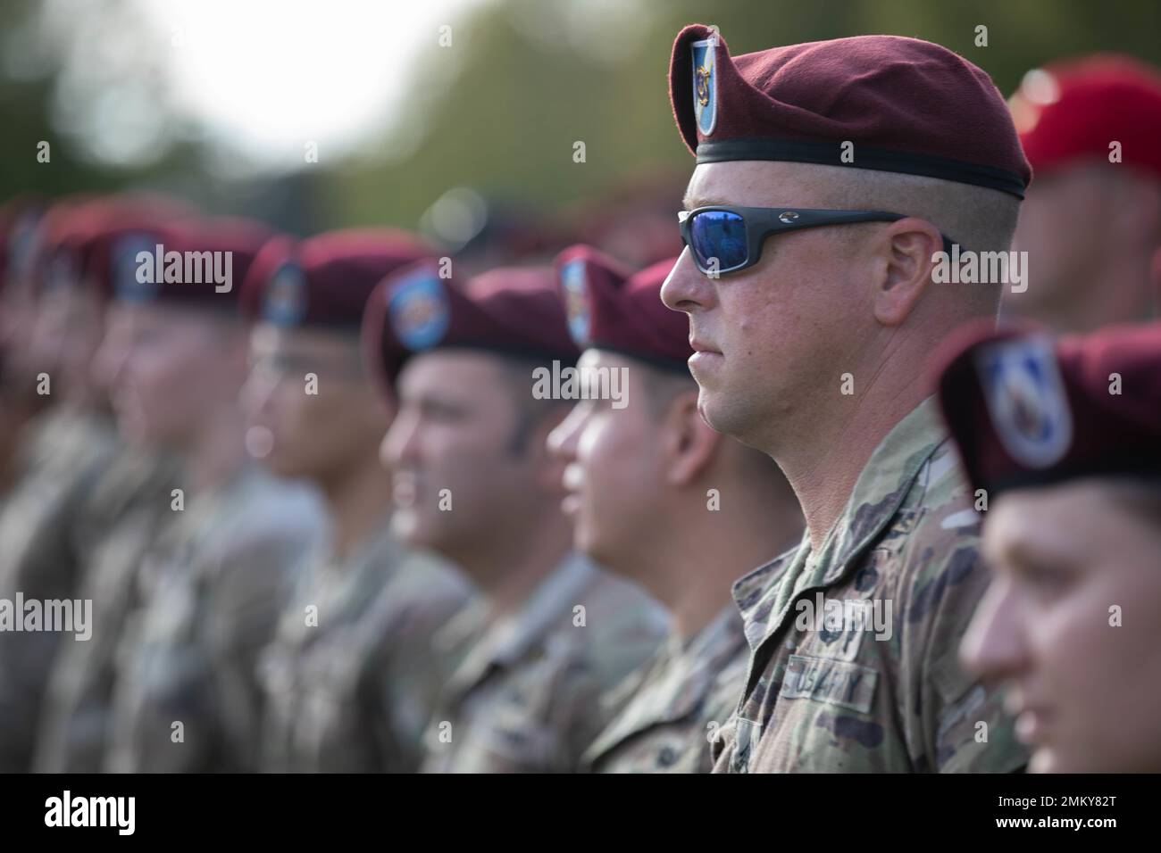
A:
<svg viewBox="0 0 1161 853">
<path fill-rule="evenodd" d="M 331 231 L 302 241 L 279 237 L 246 276 L 243 311 L 283 327 L 358 330 L 375 285 L 432 254 L 414 234 L 389 229 Z"/>
</svg>

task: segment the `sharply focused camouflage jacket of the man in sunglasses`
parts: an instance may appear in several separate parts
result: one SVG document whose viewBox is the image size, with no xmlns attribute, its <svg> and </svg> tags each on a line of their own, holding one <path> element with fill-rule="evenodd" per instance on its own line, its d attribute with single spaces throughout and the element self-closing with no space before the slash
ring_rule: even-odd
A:
<svg viewBox="0 0 1161 853">
<path fill-rule="evenodd" d="M 957 659 L 988 583 L 979 534 L 929 398 L 874 450 L 817 555 L 805 537 L 735 584 L 752 656 L 714 771 L 1021 768 L 1000 699 Z M 885 630 L 857 609 L 874 606 Z"/>
</svg>

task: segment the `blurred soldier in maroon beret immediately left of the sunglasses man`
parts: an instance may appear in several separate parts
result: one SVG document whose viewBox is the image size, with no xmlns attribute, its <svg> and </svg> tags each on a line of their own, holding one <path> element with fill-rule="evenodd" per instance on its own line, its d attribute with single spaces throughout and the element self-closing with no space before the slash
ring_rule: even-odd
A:
<svg viewBox="0 0 1161 853">
<path fill-rule="evenodd" d="M 585 753 L 604 773 L 708 773 L 709 739 L 742 695 L 749 648 L 730 586 L 796 545 L 798 500 L 769 456 L 698 414 L 684 315 L 662 304 L 673 268 L 629 276 L 586 247 L 557 259 L 579 368 L 625 376 L 625 405 L 580 400 L 549 436 L 565 463 L 579 551 L 634 580 L 670 613 L 652 660 L 614 688 L 630 696 Z"/>
</svg>

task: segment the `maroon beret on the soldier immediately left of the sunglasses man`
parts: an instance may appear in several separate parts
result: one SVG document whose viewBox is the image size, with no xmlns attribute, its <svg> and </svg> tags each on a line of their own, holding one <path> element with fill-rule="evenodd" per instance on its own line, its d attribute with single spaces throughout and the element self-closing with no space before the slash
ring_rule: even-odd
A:
<svg viewBox="0 0 1161 853">
<path fill-rule="evenodd" d="M 630 275 L 591 246 L 564 250 L 556 258 L 556 276 L 572 340 L 688 375 L 688 320 L 661 301 L 675 263 L 670 258 Z"/>
</svg>

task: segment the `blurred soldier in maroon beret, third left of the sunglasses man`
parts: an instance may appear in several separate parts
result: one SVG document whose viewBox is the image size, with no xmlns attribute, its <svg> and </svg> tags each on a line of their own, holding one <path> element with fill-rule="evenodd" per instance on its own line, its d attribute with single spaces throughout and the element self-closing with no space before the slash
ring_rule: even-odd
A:
<svg viewBox="0 0 1161 853">
<path fill-rule="evenodd" d="M 437 628 L 468 597 L 452 569 L 390 533 L 391 479 L 377 463 L 395 400 L 363 369 L 359 326 L 374 287 L 431 255 L 394 231 L 267 244 L 244 302 L 251 337 L 247 447 L 275 475 L 318 486 L 330 541 L 303 572 L 260 664 L 262 767 L 414 771 L 442 677 Z"/>
</svg>

